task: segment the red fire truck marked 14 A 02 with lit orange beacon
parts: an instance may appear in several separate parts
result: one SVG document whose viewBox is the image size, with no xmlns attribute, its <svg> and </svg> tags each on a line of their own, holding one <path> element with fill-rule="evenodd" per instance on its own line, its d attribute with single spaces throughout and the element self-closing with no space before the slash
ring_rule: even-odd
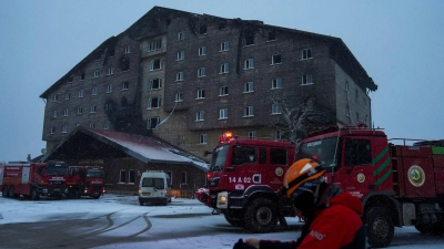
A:
<svg viewBox="0 0 444 249">
<path fill-rule="evenodd" d="M 225 133 L 214 151 L 205 153 L 213 154 L 208 188 L 195 196 L 233 226 L 256 232 L 270 231 L 278 220 L 286 226 L 283 217 L 294 217 L 294 209 L 290 199 L 278 198 L 276 190 L 294 153 L 289 142 L 241 139 Z"/>
</svg>

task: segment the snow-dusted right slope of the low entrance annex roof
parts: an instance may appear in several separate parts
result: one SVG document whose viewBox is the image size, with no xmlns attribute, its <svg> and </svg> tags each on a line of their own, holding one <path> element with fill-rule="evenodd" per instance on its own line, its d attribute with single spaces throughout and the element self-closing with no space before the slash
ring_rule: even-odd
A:
<svg viewBox="0 0 444 249">
<path fill-rule="evenodd" d="M 192 164 L 202 170 L 208 170 L 208 164 L 204 160 L 153 136 L 79 126 L 61 142 L 60 146 L 77 133 L 89 135 L 143 163 Z M 48 157 L 49 155 L 46 156 Z"/>
</svg>

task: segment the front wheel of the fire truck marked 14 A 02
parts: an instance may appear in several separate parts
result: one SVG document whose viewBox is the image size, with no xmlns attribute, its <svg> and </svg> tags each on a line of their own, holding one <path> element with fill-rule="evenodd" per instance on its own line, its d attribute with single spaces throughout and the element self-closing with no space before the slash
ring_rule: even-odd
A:
<svg viewBox="0 0 444 249">
<path fill-rule="evenodd" d="M 245 228 L 254 232 L 271 231 L 278 224 L 275 207 L 271 199 L 258 198 L 246 207 Z"/>
</svg>

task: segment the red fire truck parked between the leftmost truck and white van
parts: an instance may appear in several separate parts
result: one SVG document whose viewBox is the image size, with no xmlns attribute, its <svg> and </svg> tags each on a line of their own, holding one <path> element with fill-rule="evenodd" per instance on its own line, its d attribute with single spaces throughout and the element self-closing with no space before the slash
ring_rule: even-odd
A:
<svg viewBox="0 0 444 249">
<path fill-rule="evenodd" d="M 68 196 L 99 199 L 104 194 L 104 172 L 101 166 L 69 166 Z"/>
</svg>

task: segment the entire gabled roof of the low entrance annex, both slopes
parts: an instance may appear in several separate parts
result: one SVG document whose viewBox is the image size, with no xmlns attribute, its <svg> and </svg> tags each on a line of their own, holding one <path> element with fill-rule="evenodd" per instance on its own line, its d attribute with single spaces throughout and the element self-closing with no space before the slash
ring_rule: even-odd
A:
<svg viewBox="0 0 444 249">
<path fill-rule="evenodd" d="M 78 148 L 81 148 L 84 153 L 90 153 L 89 151 L 93 151 L 97 147 L 94 142 L 91 142 L 91 138 L 145 164 L 190 164 L 202 170 L 208 170 L 208 164 L 204 160 L 157 137 L 83 126 L 79 126 L 72 131 L 69 136 L 60 142 L 60 145 L 53 152 L 44 155 L 41 160 L 46 162 L 51 158 L 67 157 L 67 155 L 80 155 L 73 152 Z M 88 142 L 84 143 L 87 139 Z"/>
</svg>

